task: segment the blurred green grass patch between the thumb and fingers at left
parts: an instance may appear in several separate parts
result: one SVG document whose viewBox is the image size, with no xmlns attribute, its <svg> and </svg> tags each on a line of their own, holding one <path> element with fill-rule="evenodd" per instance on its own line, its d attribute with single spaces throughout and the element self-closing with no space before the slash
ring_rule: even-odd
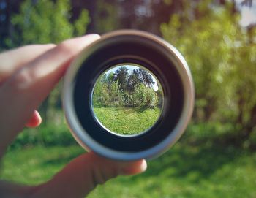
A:
<svg viewBox="0 0 256 198">
<path fill-rule="evenodd" d="M 79 146 L 31 147 L 7 152 L 1 167 L 1 178 L 25 184 L 42 183 L 83 153 Z"/>
</svg>

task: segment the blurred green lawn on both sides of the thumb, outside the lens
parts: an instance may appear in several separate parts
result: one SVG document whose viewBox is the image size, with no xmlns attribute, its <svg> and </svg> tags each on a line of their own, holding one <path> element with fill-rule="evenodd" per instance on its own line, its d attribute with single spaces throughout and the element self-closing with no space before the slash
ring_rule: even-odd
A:
<svg viewBox="0 0 256 198">
<path fill-rule="evenodd" d="M 79 146 L 8 151 L 1 178 L 37 184 L 50 179 L 84 151 Z M 89 198 L 256 197 L 256 153 L 205 143 L 178 142 L 141 175 L 118 177 L 97 186 Z"/>
</svg>

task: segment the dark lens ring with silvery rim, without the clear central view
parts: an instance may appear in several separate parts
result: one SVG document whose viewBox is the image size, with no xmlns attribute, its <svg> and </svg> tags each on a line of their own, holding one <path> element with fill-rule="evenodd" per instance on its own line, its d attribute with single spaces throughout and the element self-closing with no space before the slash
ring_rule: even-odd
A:
<svg viewBox="0 0 256 198">
<path fill-rule="evenodd" d="M 164 102 L 157 123 L 147 132 L 122 137 L 97 122 L 91 94 L 102 72 L 127 62 L 141 65 L 157 77 Z M 167 151 L 186 129 L 194 97 L 192 75 L 181 53 L 143 31 L 104 34 L 72 61 L 64 77 L 64 113 L 75 140 L 88 151 L 116 160 L 152 159 Z"/>
</svg>

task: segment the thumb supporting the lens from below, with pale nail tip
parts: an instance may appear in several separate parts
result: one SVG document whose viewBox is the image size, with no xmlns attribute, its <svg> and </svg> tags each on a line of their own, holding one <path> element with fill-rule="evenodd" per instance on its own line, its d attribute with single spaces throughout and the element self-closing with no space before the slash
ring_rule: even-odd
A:
<svg viewBox="0 0 256 198">
<path fill-rule="evenodd" d="M 48 183 L 39 186 L 35 197 L 85 197 L 97 184 L 118 175 L 135 175 L 146 170 L 146 161 L 112 161 L 94 153 L 71 161 Z"/>
</svg>

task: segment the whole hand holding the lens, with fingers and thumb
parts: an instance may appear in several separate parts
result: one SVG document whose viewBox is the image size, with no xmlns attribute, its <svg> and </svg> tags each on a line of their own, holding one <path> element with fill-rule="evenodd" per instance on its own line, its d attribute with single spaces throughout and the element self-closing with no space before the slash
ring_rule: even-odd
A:
<svg viewBox="0 0 256 198">
<path fill-rule="evenodd" d="M 24 126 L 41 123 L 37 107 L 75 56 L 99 35 L 69 39 L 59 45 L 29 45 L 0 54 L 0 157 Z M 78 156 L 39 186 L 0 181 L 0 197 L 84 197 L 99 183 L 117 175 L 146 170 L 146 161 L 111 161 L 87 153 Z"/>
</svg>

